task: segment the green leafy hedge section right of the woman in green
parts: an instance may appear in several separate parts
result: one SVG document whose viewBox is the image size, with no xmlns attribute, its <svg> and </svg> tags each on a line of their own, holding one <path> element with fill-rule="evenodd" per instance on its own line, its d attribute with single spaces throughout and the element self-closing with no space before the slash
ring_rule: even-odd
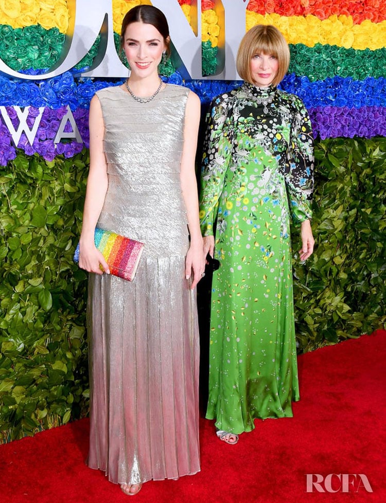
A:
<svg viewBox="0 0 386 503">
<path fill-rule="evenodd" d="M 315 145 L 315 252 L 293 263 L 301 351 L 384 327 L 385 167 L 384 137 Z"/>
</svg>

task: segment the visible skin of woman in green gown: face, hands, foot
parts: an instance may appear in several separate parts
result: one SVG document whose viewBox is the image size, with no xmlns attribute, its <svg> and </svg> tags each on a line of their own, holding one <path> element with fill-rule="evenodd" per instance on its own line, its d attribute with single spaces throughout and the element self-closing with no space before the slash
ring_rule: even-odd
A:
<svg viewBox="0 0 386 503">
<path fill-rule="evenodd" d="M 274 80 L 278 68 L 279 64 L 275 56 L 265 53 L 256 53 L 252 57 L 250 63 L 253 84 L 259 87 L 268 87 Z M 311 256 L 314 246 L 311 223 L 309 220 L 305 220 L 301 224 L 301 239 L 302 247 L 299 250 L 299 254 L 300 260 L 304 261 Z M 204 236 L 203 244 L 205 257 L 209 254 L 210 257 L 213 258 L 215 252 L 215 237 L 213 235 Z M 223 435 L 221 440 L 229 444 L 235 444 L 238 438 L 234 434 L 228 433 L 227 435 Z"/>
</svg>

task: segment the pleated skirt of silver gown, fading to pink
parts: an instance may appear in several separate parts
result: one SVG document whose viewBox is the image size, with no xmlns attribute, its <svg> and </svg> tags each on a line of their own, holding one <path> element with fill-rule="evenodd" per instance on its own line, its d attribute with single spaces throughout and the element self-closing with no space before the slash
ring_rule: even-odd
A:
<svg viewBox="0 0 386 503">
<path fill-rule="evenodd" d="M 90 274 L 87 463 L 111 482 L 200 470 L 196 292 L 184 263 L 143 257 L 133 282 Z"/>
</svg>

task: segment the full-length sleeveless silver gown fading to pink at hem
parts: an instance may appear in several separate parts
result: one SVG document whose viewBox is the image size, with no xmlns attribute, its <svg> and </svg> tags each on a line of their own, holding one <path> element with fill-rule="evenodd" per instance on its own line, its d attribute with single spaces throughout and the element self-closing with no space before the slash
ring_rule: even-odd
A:
<svg viewBox="0 0 386 503">
<path fill-rule="evenodd" d="M 115 483 L 200 470 L 196 294 L 180 161 L 189 91 L 97 93 L 109 187 L 98 226 L 145 243 L 134 281 L 90 274 L 91 468 Z"/>
</svg>

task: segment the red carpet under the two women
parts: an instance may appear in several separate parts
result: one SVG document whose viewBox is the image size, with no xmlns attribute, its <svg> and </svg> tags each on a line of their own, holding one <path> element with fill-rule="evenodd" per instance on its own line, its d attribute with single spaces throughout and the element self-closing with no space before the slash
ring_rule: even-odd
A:
<svg viewBox="0 0 386 503">
<path fill-rule="evenodd" d="M 386 332 L 377 331 L 301 355 L 302 399 L 293 419 L 256 421 L 235 446 L 217 440 L 213 422 L 202 419 L 201 472 L 147 482 L 133 501 L 384 503 L 385 342 Z M 1 445 L 0 501 L 127 502 L 102 472 L 84 465 L 87 435 L 88 420 L 81 420 Z M 332 473 L 364 474 L 373 492 L 358 487 L 357 477 L 344 493 L 337 476 L 337 492 L 307 492 L 306 474 Z"/>
</svg>

